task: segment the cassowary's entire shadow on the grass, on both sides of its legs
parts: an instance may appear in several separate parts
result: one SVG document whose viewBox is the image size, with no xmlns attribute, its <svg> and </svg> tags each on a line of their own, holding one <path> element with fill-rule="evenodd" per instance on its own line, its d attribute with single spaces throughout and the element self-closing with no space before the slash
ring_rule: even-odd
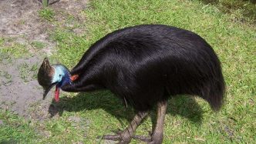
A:
<svg viewBox="0 0 256 144">
<path fill-rule="evenodd" d="M 118 119 L 123 128 L 126 126 L 123 126 L 122 119 L 130 122 L 136 114 L 136 111 L 130 105 L 126 108 L 123 100 L 117 98 L 109 91 L 81 92 L 72 97 L 62 96 L 59 102 L 52 100 L 52 104 L 49 106 L 49 113 L 53 117 L 57 114 L 62 116 L 62 113 L 65 111 L 79 112 L 93 109 L 105 110 L 111 116 Z M 191 96 L 179 95 L 168 101 L 167 115 L 182 116 L 195 124 L 200 124 L 202 113 L 203 111 L 200 109 L 200 105 Z M 154 127 L 157 119 L 155 108 L 150 112 L 150 117 Z"/>
</svg>

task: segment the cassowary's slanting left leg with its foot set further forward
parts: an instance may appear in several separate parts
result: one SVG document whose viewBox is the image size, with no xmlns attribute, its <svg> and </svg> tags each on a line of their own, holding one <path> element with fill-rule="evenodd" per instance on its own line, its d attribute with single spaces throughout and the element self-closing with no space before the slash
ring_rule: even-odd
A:
<svg viewBox="0 0 256 144">
<path fill-rule="evenodd" d="M 137 126 L 140 125 L 140 122 L 147 116 L 148 112 L 138 112 L 130 125 L 123 130 L 123 132 L 117 132 L 116 135 L 105 135 L 103 139 L 120 141 L 119 143 L 129 143 L 132 139 L 133 133 L 135 132 Z"/>
</svg>

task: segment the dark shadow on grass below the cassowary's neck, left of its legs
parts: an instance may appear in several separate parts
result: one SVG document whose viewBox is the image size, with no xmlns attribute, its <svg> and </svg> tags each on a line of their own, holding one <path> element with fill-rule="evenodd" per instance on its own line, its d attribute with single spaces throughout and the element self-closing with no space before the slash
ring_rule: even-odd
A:
<svg viewBox="0 0 256 144">
<path fill-rule="evenodd" d="M 126 108 L 122 99 L 117 98 L 109 91 L 81 92 L 74 97 L 62 97 L 59 102 L 52 99 L 49 106 L 51 117 L 67 112 L 80 112 L 92 109 L 103 109 L 114 116 L 123 125 L 122 119 L 131 121 L 136 113 L 130 106 Z"/>
</svg>

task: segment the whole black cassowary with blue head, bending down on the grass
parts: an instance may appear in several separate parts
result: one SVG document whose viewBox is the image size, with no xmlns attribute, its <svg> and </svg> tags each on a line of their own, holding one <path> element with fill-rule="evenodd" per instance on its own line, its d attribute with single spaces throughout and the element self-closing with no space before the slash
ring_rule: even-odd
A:
<svg viewBox="0 0 256 144">
<path fill-rule="evenodd" d="M 95 42 L 69 72 L 63 65 L 39 69 L 39 84 L 45 95 L 56 85 L 66 92 L 109 89 L 136 109 L 130 126 L 103 139 L 128 143 L 163 141 L 167 99 L 175 95 L 197 95 L 214 110 L 221 108 L 224 78 L 214 50 L 194 32 L 167 25 L 137 25 L 109 33 Z M 73 81 L 72 81 L 73 80 Z M 133 136 L 136 127 L 157 105 L 157 124 L 150 137 Z"/>
</svg>

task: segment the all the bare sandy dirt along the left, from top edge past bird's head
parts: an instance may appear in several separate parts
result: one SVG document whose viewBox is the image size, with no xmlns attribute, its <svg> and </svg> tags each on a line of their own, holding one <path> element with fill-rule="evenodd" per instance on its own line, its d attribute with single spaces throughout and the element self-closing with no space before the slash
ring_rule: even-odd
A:
<svg viewBox="0 0 256 144">
<path fill-rule="evenodd" d="M 49 5 L 49 8 L 56 13 L 54 21 L 62 25 L 72 26 L 72 22 L 82 23 L 85 20 L 79 14 L 86 8 L 86 0 L 60 0 Z M 32 54 L 19 59 L 3 58 L 0 63 L 0 108 L 10 109 L 20 116 L 43 120 L 49 118 L 53 93 L 42 100 L 42 87 L 35 75 L 44 56 L 55 52 L 56 42 L 49 39 L 49 32 L 59 25 L 40 18 L 40 9 L 42 3 L 38 0 L 0 1 L 0 38 L 12 39 L 10 43 L 21 43 Z M 67 16 L 75 20 L 67 22 Z M 79 28 L 74 28 L 73 32 L 83 33 L 84 28 Z M 45 46 L 35 50 L 32 42 L 42 42 Z M 32 68 L 33 65 L 36 69 Z"/>
</svg>

